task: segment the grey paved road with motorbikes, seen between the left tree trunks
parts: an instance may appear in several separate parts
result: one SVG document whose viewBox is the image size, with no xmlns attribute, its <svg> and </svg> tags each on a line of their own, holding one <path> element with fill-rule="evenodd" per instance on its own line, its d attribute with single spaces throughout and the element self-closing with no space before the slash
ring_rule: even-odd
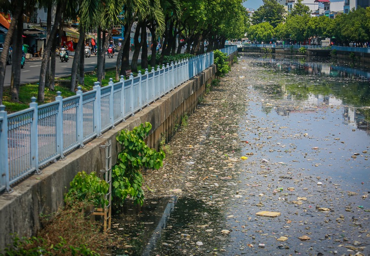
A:
<svg viewBox="0 0 370 256">
<path fill-rule="evenodd" d="M 132 58 L 133 52 L 130 52 L 130 60 Z M 68 76 L 72 68 L 73 57 L 68 62 L 61 62 L 59 58 L 56 59 L 56 77 Z M 117 61 L 117 53 L 113 59 L 105 58 L 105 68 L 115 67 Z M 85 72 L 93 71 L 97 65 L 97 57 L 91 56 L 90 58 L 85 58 Z M 26 60 L 24 68 L 21 70 L 21 84 L 35 83 L 39 81 L 41 69 L 41 58 L 34 58 L 31 60 Z M 12 66 L 7 65 L 7 71 L 5 74 L 4 86 L 10 86 L 10 77 L 12 72 Z"/>
</svg>

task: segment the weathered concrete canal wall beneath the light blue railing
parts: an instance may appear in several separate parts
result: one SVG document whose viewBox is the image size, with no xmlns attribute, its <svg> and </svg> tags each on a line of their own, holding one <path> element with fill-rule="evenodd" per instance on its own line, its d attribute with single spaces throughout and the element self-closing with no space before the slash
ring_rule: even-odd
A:
<svg viewBox="0 0 370 256">
<path fill-rule="evenodd" d="M 13 193 L 0 195 L 0 251 L 12 242 L 10 234 L 34 235 L 42 227 L 42 216 L 52 216 L 63 207 L 63 195 L 79 171 L 90 173 L 104 169 L 105 151 L 100 145 L 108 140 L 112 140 L 112 160 L 116 164 L 120 150 L 116 136 L 120 130 L 131 130 L 141 123 L 150 122 L 153 128 L 147 144 L 158 148 L 162 134 L 166 133 L 170 138 L 173 127 L 180 124 L 181 118 L 195 110 L 198 98 L 215 78 L 215 72 L 216 66 L 211 66 L 126 122 L 118 124 L 116 129 L 108 130 L 101 138 L 71 152 L 65 160 L 44 168 L 41 175 L 28 177 L 14 187 Z"/>
</svg>

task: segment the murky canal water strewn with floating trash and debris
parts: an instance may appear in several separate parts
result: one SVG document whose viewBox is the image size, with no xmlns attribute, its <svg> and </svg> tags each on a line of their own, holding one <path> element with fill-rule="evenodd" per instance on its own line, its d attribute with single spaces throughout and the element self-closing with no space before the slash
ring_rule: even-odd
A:
<svg viewBox="0 0 370 256">
<path fill-rule="evenodd" d="M 369 255 L 370 82 L 242 55 L 114 216 L 110 255 Z M 367 72 L 368 74 L 368 72 Z"/>
</svg>

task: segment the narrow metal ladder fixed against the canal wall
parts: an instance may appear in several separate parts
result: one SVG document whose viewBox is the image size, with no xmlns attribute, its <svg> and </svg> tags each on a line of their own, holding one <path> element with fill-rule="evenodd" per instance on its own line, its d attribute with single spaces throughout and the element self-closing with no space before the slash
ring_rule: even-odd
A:
<svg viewBox="0 0 370 256">
<path fill-rule="evenodd" d="M 95 208 L 92 215 L 103 216 L 104 232 L 108 233 L 112 224 L 112 140 L 100 145 L 100 148 L 105 148 L 105 168 L 100 172 L 105 174 L 105 181 L 109 184 L 108 192 L 104 196 L 108 204 L 104 208 Z"/>
</svg>

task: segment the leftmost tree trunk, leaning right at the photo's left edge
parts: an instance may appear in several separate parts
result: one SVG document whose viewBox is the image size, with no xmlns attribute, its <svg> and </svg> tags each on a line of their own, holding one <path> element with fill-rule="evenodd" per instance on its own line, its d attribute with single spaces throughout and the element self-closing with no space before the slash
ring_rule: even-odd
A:
<svg viewBox="0 0 370 256">
<path fill-rule="evenodd" d="M 9 46 L 12 42 L 13 33 L 15 31 L 16 24 L 18 23 L 17 20 L 22 15 L 23 4 L 24 0 L 16 1 L 15 5 L 16 8 L 14 9 L 13 19 L 12 22 L 10 23 L 8 33 L 5 36 L 3 53 L 8 53 L 9 51 Z M 3 104 L 4 80 L 5 80 L 5 71 L 7 67 L 7 60 L 8 55 L 2 54 L 2 56 L 0 57 L 0 105 Z"/>
</svg>

